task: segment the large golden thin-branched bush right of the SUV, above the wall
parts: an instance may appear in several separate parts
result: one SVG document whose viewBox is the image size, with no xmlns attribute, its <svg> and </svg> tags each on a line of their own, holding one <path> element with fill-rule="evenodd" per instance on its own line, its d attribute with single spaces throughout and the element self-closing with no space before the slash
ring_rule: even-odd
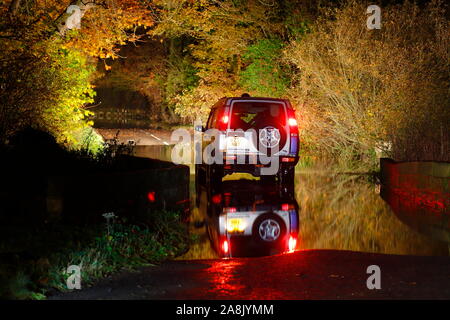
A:
<svg viewBox="0 0 450 320">
<path fill-rule="evenodd" d="M 448 161 L 449 28 L 431 1 L 383 7 L 368 30 L 368 3 L 328 8 L 312 32 L 285 51 L 297 67 L 289 96 L 301 114 L 303 145 L 353 169 L 377 155 Z"/>
</svg>

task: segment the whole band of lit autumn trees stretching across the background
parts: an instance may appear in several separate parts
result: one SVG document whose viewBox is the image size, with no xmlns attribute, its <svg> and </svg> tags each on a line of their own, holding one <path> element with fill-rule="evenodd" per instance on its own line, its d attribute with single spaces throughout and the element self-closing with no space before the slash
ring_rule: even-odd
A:
<svg viewBox="0 0 450 320">
<path fill-rule="evenodd" d="M 0 138 L 32 125 L 79 146 L 94 84 L 110 81 L 172 123 L 204 120 L 223 96 L 289 98 L 311 157 L 445 160 L 446 10 L 388 2 L 369 30 L 362 0 L 4 1 Z"/>
</svg>

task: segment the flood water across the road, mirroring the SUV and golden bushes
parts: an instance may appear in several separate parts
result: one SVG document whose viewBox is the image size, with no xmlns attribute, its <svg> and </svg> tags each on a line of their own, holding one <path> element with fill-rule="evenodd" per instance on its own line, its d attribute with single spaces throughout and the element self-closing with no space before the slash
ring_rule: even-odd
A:
<svg viewBox="0 0 450 320">
<path fill-rule="evenodd" d="M 166 146 L 137 153 L 170 161 Z M 295 186 L 283 189 L 276 183 L 262 184 L 251 175 L 234 174 L 220 185 L 206 183 L 196 191 L 191 168 L 190 190 L 189 226 L 195 243 L 179 259 L 223 256 L 220 237 L 230 222 L 235 240 L 227 244 L 227 251 L 232 256 L 277 254 L 292 249 L 289 245 L 295 245 L 295 250 L 449 255 L 447 208 L 435 210 L 393 196 L 384 197 L 387 203 L 368 175 L 297 170 Z M 268 246 L 270 241 L 261 237 L 278 237 L 277 245 Z M 263 246 L 267 248 L 259 250 Z"/>
</svg>

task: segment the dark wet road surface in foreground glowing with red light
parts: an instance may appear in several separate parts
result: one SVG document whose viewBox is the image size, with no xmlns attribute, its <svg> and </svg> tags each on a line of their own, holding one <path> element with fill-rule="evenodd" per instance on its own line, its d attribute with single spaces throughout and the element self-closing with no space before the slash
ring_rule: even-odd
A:
<svg viewBox="0 0 450 320">
<path fill-rule="evenodd" d="M 381 289 L 367 288 L 367 267 Z M 450 299 L 450 257 L 338 250 L 171 261 L 49 299 Z"/>
</svg>

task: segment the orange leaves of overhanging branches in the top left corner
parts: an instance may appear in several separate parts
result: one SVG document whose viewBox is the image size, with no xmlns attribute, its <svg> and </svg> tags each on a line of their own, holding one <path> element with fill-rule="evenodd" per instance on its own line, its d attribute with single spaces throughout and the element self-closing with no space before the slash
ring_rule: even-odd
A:
<svg viewBox="0 0 450 320">
<path fill-rule="evenodd" d="M 18 43 L 33 46 L 40 40 L 58 36 L 55 22 L 67 7 L 67 2 L 58 0 L 22 2 L 16 15 L 11 17 L 9 3 L 3 2 L 0 14 L 9 19 L 2 19 L 0 36 L 6 42 L 12 41 L 10 46 L 17 47 L 21 47 Z M 136 29 L 152 25 L 148 6 L 141 1 L 106 0 L 87 10 L 81 19 L 81 29 L 70 30 L 63 41 L 67 48 L 79 49 L 93 57 L 116 58 L 116 45 L 138 40 Z"/>
</svg>

